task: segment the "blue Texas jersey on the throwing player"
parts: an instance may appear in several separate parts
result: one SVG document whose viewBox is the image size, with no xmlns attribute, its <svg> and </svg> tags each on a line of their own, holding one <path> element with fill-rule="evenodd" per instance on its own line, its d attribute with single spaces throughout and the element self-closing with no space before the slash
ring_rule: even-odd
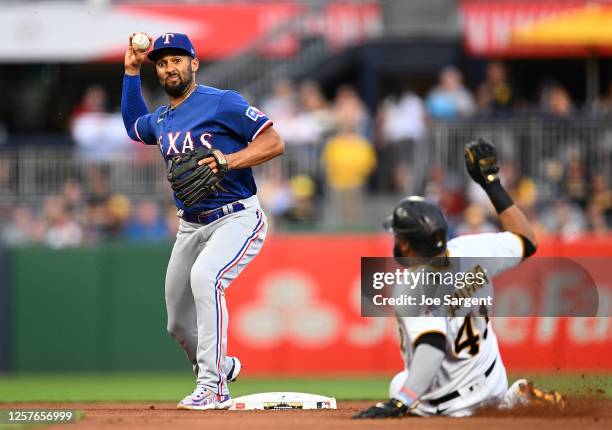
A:
<svg viewBox="0 0 612 430">
<path fill-rule="evenodd" d="M 128 134 L 147 145 L 157 145 L 168 161 L 201 146 L 224 154 L 238 152 L 271 124 L 266 115 L 237 92 L 198 85 L 176 108 L 162 106 L 139 117 Z M 220 185 L 224 190 L 190 208 L 175 195 L 176 206 L 188 213 L 199 213 L 257 192 L 250 167 L 230 170 Z"/>
</svg>

